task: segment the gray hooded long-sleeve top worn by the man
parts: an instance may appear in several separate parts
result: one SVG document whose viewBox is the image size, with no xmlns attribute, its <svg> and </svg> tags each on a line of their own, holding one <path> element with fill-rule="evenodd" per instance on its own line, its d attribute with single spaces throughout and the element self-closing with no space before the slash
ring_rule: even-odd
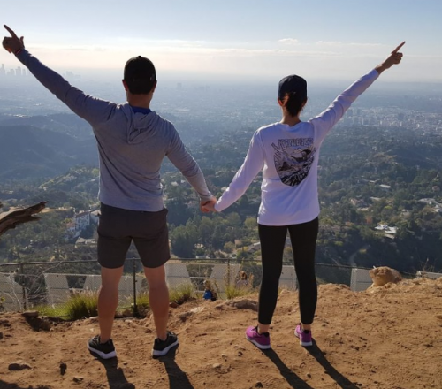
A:
<svg viewBox="0 0 442 389">
<path fill-rule="evenodd" d="M 200 167 L 169 121 L 155 111 L 134 113 L 128 103 L 86 95 L 27 50 L 17 57 L 45 88 L 92 126 L 100 156 L 101 202 L 126 210 L 162 210 L 160 168 L 164 156 L 186 177 L 202 201 L 210 199 Z"/>
</svg>

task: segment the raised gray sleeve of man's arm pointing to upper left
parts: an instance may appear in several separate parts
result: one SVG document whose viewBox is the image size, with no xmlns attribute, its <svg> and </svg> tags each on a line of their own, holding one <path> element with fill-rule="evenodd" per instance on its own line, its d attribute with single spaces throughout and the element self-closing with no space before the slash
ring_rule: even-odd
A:
<svg viewBox="0 0 442 389">
<path fill-rule="evenodd" d="M 62 76 L 43 65 L 27 50 L 22 50 L 17 58 L 29 69 L 29 72 L 34 74 L 43 87 L 56 95 L 74 113 L 87 120 L 92 126 L 105 122 L 117 106 L 115 103 L 86 95 L 80 89 L 72 87 Z"/>
</svg>

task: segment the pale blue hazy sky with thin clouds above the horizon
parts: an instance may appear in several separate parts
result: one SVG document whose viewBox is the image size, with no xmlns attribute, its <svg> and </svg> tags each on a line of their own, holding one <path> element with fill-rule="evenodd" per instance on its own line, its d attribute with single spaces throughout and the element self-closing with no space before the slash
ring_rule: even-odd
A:
<svg viewBox="0 0 442 389">
<path fill-rule="evenodd" d="M 354 79 L 400 42 L 392 81 L 442 82 L 440 0 L 20 0 L 2 24 L 58 71 L 120 70 L 144 55 L 158 73 L 220 79 Z M 5 51 L 0 64 L 17 65 Z"/>
</svg>

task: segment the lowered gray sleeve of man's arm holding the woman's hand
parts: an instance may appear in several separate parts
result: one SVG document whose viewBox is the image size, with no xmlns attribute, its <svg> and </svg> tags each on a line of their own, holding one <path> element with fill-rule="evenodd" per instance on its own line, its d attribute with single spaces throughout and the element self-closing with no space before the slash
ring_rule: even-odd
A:
<svg viewBox="0 0 442 389">
<path fill-rule="evenodd" d="M 194 187 L 194 190 L 198 193 L 200 199 L 203 202 L 210 200 L 212 195 L 209 192 L 200 166 L 198 166 L 194 158 L 184 147 L 184 144 L 179 137 L 179 133 L 173 126 L 171 126 L 171 143 L 166 156 L 170 159 L 171 163 L 175 165 L 179 172 L 186 177 L 188 183 Z"/>
</svg>

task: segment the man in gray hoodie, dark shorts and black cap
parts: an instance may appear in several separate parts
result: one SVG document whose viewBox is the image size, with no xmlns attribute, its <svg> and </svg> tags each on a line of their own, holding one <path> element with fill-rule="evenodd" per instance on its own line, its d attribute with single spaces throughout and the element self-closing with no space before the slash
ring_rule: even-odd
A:
<svg viewBox="0 0 442 389">
<path fill-rule="evenodd" d="M 166 355 L 178 345 L 167 331 L 169 291 L 164 263 L 170 258 L 160 168 L 168 156 L 200 196 L 200 208 L 215 203 L 202 172 L 185 149 L 174 126 L 150 111 L 156 88 L 156 71 L 145 57 L 126 63 L 123 86 L 127 103 L 116 104 L 85 95 L 57 72 L 25 50 L 23 37 L 11 28 L 4 49 L 27 66 L 45 88 L 92 126 L 100 156 L 101 217 L 98 225 L 98 262 L 102 286 L 98 297 L 100 334 L 88 341 L 88 349 L 103 359 L 116 356 L 111 339 L 118 306 L 118 283 L 126 252 L 133 240 L 149 284 L 156 339 L 152 355 Z"/>
</svg>

